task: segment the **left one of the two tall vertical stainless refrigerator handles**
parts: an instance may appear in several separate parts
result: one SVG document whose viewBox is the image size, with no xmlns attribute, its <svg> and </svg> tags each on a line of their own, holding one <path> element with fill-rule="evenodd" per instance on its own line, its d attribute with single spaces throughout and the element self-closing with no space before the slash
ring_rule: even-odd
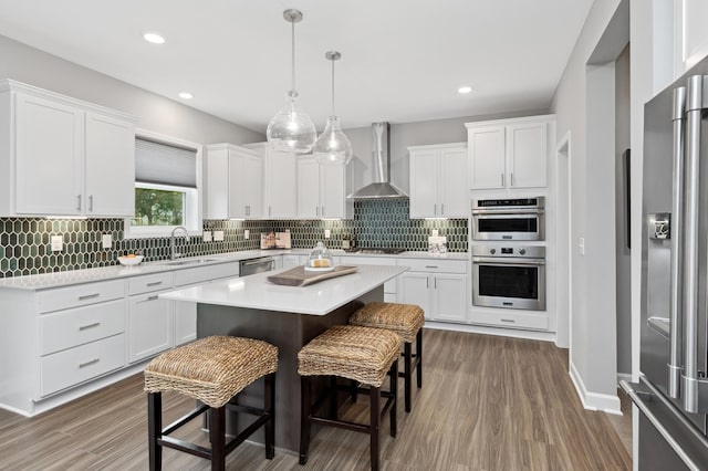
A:
<svg viewBox="0 0 708 471">
<path fill-rule="evenodd" d="M 668 360 L 668 396 L 678 399 L 681 380 L 681 255 L 683 255 L 683 211 L 684 211 L 684 113 L 686 111 L 686 87 L 674 90 L 671 119 L 674 122 L 673 147 L 673 195 L 671 195 L 671 262 L 670 262 L 670 299 L 669 299 L 669 360 Z"/>
</svg>

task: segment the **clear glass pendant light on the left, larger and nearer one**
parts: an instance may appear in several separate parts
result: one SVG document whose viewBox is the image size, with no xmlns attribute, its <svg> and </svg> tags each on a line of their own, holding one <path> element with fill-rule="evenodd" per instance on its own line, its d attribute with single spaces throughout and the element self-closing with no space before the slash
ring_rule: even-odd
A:
<svg viewBox="0 0 708 471">
<path fill-rule="evenodd" d="M 292 87 L 285 97 L 285 106 L 268 124 L 268 142 L 275 150 L 306 154 L 312 150 L 317 132 L 314 123 L 298 105 L 295 90 L 295 23 L 302 21 L 302 12 L 283 11 L 285 21 L 292 24 Z"/>
</svg>

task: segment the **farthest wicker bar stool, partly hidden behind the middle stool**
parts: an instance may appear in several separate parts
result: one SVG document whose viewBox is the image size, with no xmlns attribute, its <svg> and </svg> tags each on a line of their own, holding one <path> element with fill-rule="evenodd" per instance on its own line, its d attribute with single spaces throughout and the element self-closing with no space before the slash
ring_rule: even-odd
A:
<svg viewBox="0 0 708 471">
<path fill-rule="evenodd" d="M 394 331 L 403 341 L 404 368 L 398 375 L 404 378 L 404 402 L 406 412 L 410 412 L 410 389 L 413 370 L 416 370 L 418 388 L 423 386 L 423 324 L 425 313 L 415 304 L 373 302 L 357 310 L 350 317 L 350 324 L 364 327 Z M 413 342 L 416 353 L 412 353 Z M 355 399 L 355 394 L 353 394 Z"/>
</svg>

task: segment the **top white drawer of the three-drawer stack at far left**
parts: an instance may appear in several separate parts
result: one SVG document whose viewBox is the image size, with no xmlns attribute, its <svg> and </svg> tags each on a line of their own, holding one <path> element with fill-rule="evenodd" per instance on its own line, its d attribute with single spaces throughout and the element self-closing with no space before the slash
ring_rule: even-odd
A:
<svg viewBox="0 0 708 471">
<path fill-rule="evenodd" d="M 123 280 L 80 284 L 40 292 L 40 312 L 65 310 L 87 304 L 103 303 L 125 296 Z"/>
</svg>

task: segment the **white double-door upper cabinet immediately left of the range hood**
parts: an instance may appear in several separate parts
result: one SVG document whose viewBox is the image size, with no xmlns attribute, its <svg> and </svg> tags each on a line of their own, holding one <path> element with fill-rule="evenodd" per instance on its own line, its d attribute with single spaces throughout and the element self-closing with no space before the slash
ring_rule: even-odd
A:
<svg viewBox="0 0 708 471">
<path fill-rule="evenodd" d="M 346 218 L 346 166 L 320 165 L 314 157 L 298 158 L 298 217 Z"/>
</svg>

